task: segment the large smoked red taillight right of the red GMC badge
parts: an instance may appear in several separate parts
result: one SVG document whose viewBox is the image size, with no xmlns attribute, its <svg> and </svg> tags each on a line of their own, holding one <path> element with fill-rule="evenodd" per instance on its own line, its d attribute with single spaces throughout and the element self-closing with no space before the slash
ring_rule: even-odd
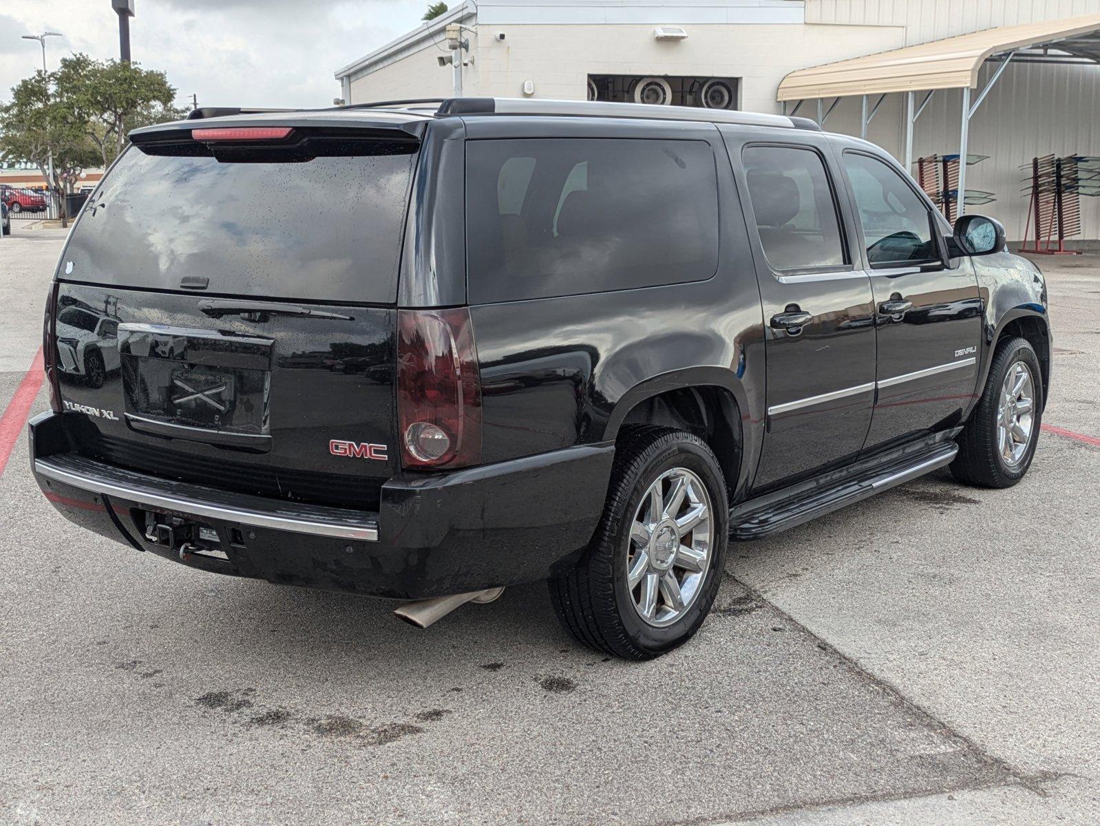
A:
<svg viewBox="0 0 1100 826">
<path fill-rule="evenodd" d="M 397 422 L 406 467 L 481 462 L 481 375 L 469 309 L 397 311 Z"/>
</svg>

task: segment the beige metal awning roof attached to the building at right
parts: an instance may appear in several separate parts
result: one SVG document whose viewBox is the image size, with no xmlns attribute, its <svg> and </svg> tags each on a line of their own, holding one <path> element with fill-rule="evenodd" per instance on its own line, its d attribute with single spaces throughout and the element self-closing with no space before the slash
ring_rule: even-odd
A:
<svg viewBox="0 0 1100 826">
<path fill-rule="evenodd" d="M 798 69 L 783 78 L 777 100 L 879 95 L 919 89 L 977 88 L 986 58 L 1048 46 L 1070 60 L 1100 62 L 1100 14 L 1004 25 L 850 60 Z M 1049 48 L 1036 58 L 1054 58 Z"/>
</svg>

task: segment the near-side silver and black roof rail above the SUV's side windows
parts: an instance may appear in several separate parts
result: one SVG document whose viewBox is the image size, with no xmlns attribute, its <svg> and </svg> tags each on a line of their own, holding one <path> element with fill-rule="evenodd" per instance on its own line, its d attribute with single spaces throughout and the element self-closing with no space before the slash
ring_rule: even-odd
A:
<svg viewBox="0 0 1100 826">
<path fill-rule="evenodd" d="M 698 121 L 703 123 L 739 123 L 754 126 L 780 126 L 820 132 L 821 126 L 807 118 L 785 114 L 739 112 L 728 109 L 702 109 L 648 103 L 612 103 L 602 100 L 546 100 L 525 98 L 449 98 L 440 103 L 440 115 L 458 114 L 562 114 L 590 118 L 640 118 L 646 120 Z"/>
</svg>

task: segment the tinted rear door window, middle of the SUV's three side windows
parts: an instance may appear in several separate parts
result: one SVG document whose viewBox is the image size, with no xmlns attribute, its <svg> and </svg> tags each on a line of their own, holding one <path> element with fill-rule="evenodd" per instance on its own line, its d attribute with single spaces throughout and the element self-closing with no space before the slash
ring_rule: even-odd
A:
<svg viewBox="0 0 1100 826">
<path fill-rule="evenodd" d="M 741 155 L 768 263 L 776 269 L 843 266 L 833 190 L 810 148 L 749 146 Z"/>
</svg>

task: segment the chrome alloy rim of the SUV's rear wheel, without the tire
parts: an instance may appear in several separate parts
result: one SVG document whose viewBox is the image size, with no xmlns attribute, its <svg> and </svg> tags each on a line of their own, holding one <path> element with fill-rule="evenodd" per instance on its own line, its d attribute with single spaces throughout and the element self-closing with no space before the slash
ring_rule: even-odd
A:
<svg viewBox="0 0 1100 826">
<path fill-rule="evenodd" d="M 638 503 L 630 522 L 627 588 L 651 626 L 672 625 L 703 586 L 714 540 L 711 495 L 686 467 L 662 473 Z"/>
</svg>

